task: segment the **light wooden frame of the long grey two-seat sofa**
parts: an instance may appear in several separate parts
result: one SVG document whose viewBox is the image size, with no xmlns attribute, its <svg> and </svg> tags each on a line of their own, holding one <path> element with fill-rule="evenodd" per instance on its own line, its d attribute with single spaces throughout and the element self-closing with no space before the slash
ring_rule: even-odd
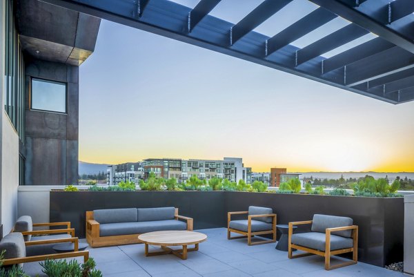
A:
<svg viewBox="0 0 414 277">
<path fill-rule="evenodd" d="M 187 230 L 193 231 L 193 218 L 179 216 L 178 208 L 175 208 L 175 220 L 186 220 Z M 91 247 L 103 247 L 112 245 L 130 245 L 141 243 L 138 239 L 140 233 L 132 235 L 99 236 L 99 222 L 94 220 L 93 211 L 86 211 L 86 241 Z"/>
</svg>

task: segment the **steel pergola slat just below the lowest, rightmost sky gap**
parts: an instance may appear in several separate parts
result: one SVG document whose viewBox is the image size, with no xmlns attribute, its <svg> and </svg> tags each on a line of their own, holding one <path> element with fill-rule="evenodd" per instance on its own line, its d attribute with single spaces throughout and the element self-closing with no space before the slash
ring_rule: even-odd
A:
<svg viewBox="0 0 414 277">
<path fill-rule="evenodd" d="M 337 68 L 342 68 L 347 64 L 353 64 L 355 61 L 375 55 L 394 46 L 391 42 L 376 37 L 375 39 L 366 41 L 364 44 L 360 44 L 359 46 L 355 46 L 338 55 L 325 59 L 322 61 L 322 73 L 325 74 Z"/>
</svg>

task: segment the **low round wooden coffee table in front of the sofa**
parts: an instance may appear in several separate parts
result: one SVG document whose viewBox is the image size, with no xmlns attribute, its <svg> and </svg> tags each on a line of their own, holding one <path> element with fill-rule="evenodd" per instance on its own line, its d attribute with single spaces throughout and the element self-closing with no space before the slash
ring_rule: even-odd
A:
<svg viewBox="0 0 414 277">
<path fill-rule="evenodd" d="M 174 254 L 175 256 L 186 260 L 188 251 L 197 251 L 200 242 L 207 240 L 204 233 L 194 231 L 156 231 L 143 233 L 138 239 L 145 244 L 145 256 L 158 256 L 165 254 Z M 164 251 L 149 252 L 148 245 L 159 245 Z M 188 245 L 195 247 L 188 249 Z M 170 249 L 169 246 L 182 246 L 182 249 Z"/>
</svg>

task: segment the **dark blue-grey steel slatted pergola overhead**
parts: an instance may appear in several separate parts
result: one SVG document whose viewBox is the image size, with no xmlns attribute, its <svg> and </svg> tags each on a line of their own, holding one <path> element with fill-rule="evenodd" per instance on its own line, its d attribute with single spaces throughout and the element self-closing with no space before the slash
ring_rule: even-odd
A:
<svg viewBox="0 0 414 277">
<path fill-rule="evenodd" d="M 384 102 L 400 104 L 414 99 L 413 0 L 309 0 L 319 8 L 273 37 L 255 32 L 255 28 L 277 17 L 294 0 L 265 0 L 237 23 L 209 15 L 221 0 L 201 0 L 193 9 L 168 0 L 42 1 Z M 292 45 L 336 17 L 351 23 L 304 48 Z M 377 37 L 324 57 L 370 32 Z"/>
</svg>

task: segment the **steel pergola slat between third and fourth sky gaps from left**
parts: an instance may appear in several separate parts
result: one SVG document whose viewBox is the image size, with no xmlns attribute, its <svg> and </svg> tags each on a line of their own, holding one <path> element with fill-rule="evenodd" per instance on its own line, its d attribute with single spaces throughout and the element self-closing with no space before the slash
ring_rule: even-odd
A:
<svg viewBox="0 0 414 277">
<path fill-rule="evenodd" d="M 332 19 L 335 19 L 335 17 L 337 16 L 332 12 L 325 10 L 324 8 L 317 8 L 310 14 L 290 25 L 288 28 L 282 30 L 282 32 L 279 32 L 274 37 L 268 39 L 266 41 L 266 55 L 270 55 L 280 48 L 284 48 L 293 41 L 312 32 L 325 23 L 328 23 Z"/>
</svg>

